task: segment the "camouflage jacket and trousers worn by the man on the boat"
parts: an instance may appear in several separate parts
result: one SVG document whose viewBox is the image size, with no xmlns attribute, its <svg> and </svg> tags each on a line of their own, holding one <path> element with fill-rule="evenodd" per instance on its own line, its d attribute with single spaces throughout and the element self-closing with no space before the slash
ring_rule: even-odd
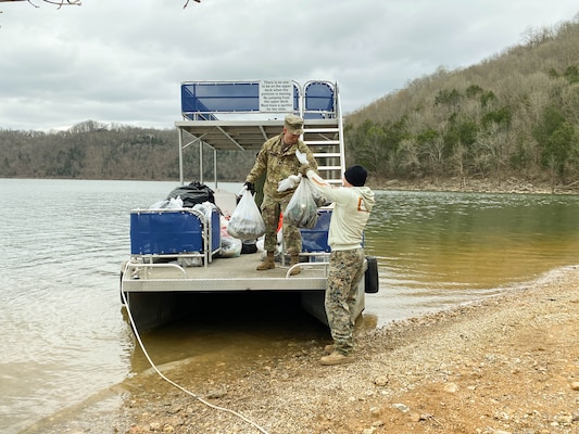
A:
<svg viewBox="0 0 579 434">
<path fill-rule="evenodd" d="M 253 168 L 246 178 L 246 182 L 255 183 L 260 176 L 265 173 L 264 197 L 261 209 L 265 221 L 264 248 L 267 252 L 276 251 L 279 215 L 286 210 L 286 206 L 295 191 L 295 189 L 282 192 L 277 191 L 279 181 L 290 175 L 298 175 L 300 171 L 301 164 L 295 156 L 295 150 L 305 153 L 310 166 L 317 171 L 317 163 L 314 159 L 314 155 L 303 141 L 298 140 L 295 144 L 287 149 L 282 146 L 284 133 L 267 140 L 257 154 Z M 284 244 L 287 254 L 299 254 L 302 251 L 300 230 L 293 225 L 287 225 L 286 221 L 284 221 Z"/>
</svg>

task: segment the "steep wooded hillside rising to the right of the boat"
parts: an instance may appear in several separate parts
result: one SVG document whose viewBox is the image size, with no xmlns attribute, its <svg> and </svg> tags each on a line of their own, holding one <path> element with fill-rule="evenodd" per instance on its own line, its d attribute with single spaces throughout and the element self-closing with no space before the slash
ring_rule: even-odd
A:
<svg viewBox="0 0 579 434">
<path fill-rule="evenodd" d="M 350 156 L 385 179 L 579 179 L 579 14 L 478 65 L 348 116 Z"/>
</svg>

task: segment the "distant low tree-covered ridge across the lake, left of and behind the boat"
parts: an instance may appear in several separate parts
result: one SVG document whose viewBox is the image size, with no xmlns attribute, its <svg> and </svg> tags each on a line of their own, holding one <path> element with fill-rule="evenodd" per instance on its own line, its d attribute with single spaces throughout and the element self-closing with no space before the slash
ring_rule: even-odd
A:
<svg viewBox="0 0 579 434">
<path fill-rule="evenodd" d="M 178 180 L 178 131 L 86 120 L 65 131 L 0 130 L 0 177 Z M 207 152 L 203 179 L 213 179 Z M 219 153 L 222 181 L 244 180 L 254 153 Z M 186 181 L 200 180 L 199 152 L 184 153 Z"/>
</svg>

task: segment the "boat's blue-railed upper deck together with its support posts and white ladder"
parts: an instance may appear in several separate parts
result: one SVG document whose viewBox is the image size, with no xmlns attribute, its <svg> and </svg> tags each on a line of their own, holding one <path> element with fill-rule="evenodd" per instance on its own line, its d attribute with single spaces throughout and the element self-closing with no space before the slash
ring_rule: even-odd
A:
<svg viewBox="0 0 579 434">
<path fill-rule="evenodd" d="M 343 120 L 338 84 L 310 80 L 182 81 L 179 132 L 179 181 L 185 184 L 184 152 L 199 146 L 199 178 L 203 177 L 203 149 L 213 151 L 217 187 L 219 151 L 253 151 L 281 132 L 284 118 L 293 113 L 304 119 L 302 140 L 318 163 L 320 175 L 340 184 L 344 164 Z M 186 136 L 187 135 L 187 136 Z"/>
</svg>

